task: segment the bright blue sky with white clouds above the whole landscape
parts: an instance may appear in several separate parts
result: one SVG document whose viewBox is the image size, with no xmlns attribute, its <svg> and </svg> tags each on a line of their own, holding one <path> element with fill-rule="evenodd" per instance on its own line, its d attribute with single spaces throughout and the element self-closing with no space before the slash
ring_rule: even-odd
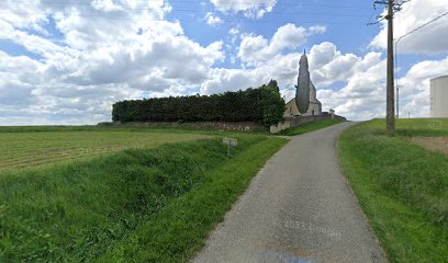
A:
<svg viewBox="0 0 448 263">
<path fill-rule="evenodd" d="M 394 19 L 401 116 L 429 116 L 448 75 L 448 0 Z M 0 125 L 110 122 L 112 104 L 278 81 L 293 98 L 305 50 L 323 110 L 385 115 L 384 7 L 373 0 L 1 0 Z"/>
</svg>

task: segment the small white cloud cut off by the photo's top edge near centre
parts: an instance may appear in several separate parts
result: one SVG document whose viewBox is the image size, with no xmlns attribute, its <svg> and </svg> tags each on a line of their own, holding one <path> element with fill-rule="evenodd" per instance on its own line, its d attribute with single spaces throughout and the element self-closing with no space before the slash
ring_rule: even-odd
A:
<svg viewBox="0 0 448 263">
<path fill-rule="evenodd" d="M 243 12 L 247 18 L 261 19 L 272 11 L 277 0 L 210 0 L 216 10 L 224 13 Z"/>
</svg>

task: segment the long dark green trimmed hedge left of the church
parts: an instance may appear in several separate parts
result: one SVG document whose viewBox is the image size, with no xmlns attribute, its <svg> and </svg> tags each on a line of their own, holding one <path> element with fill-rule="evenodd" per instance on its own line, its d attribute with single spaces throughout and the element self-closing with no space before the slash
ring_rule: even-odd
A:
<svg viewBox="0 0 448 263">
<path fill-rule="evenodd" d="M 213 95 L 169 96 L 113 104 L 112 121 L 121 122 L 257 122 L 282 121 L 284 100 L 276 80 L 257 89 Z"/>
</svg>

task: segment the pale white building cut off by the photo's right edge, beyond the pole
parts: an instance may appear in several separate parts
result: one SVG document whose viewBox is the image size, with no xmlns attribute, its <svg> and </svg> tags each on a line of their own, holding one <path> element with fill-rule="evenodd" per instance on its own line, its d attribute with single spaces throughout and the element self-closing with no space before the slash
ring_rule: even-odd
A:
<svg viewBox="0 0 448 263">
<path fill-rule="evenodd" d="M 430 80 L 430 116 L 448 117 L 448 75 Z"/>
</svg>

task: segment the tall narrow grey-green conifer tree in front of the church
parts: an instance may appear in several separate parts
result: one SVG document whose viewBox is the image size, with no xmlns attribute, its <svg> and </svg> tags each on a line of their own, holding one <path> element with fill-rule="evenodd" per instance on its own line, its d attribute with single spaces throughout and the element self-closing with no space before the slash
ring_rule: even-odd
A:
<svg viewBox="0 0 448 263">
<path fill-rule="evenodd" d="M 310 107 L 310 70 L 307 57 L 304 50 L 299 61 L 299 78 L 298 85 L 295 85 L 295 103 L 299 112 L 305 114 Z"/>
</svg>

